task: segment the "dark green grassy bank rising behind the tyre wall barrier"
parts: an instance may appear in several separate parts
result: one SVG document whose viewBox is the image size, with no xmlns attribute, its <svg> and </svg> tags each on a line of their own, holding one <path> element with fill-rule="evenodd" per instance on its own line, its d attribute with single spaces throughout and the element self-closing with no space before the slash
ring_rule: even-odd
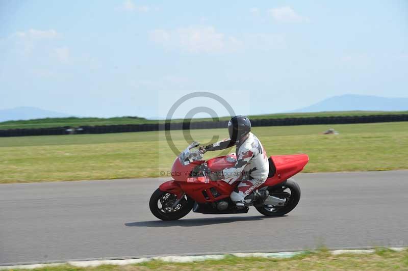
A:
<svg viewBox="0 0 408 271">
<path fill-rule="evenodd" d="M 408 114 L 408 111 L 385 112 L 385 111 L 339 111 L 339 112 L 317 112 L 317 113 L 287 113 L 249 116 L 250 119 L 271 119 L 271 118 L 301 118 L 301 117 L 331 117 L 331 116 L 368 116 L 368 115 L 392 115 Z M 228 120 L 230 117 L 221 117 L 220 120 Z M 212 121 L 210 118 L 193 119 L 192 121 Z M 183 122 L 182 119 L 174 119 L 172 122 Z M 36 120 L 18 120 L 0 122 L 0 129 L 20 129 L 20 128 L 49 128 L 49 127 L 78 127 L 85 125 L 119 125 L 119 124 L 144 124 L 144 123 L 164 123 L 164 120 L 147 120 L 138 117 L 117 117 L 117 118 L 47 118 Z"/>
</svg>

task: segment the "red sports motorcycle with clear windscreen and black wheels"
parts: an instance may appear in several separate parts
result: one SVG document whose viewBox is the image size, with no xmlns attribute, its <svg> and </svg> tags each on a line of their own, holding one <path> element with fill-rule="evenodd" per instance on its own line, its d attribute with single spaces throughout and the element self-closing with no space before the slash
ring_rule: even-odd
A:
<svg viewBox="0 0 408 271">
<path fill-rule="evenodd" d="M 198 145 L 197 142 L 191 143 L 177 156 L 171 169 L 173 180 L 162 183 L 151 195 L 150 211 L 158 219 L 181 219 L 191 209 L 208 214 L 247 213 L 252 205 L 264 215 L 281 216 L 293 210 L 299 202 L 299 185 L 290 177 L 308 164 L 308 155 L 269 157 L 267 180 L 249 195 L 252 199 L 249 204 L 237 207 L 231 201 L 230 194 L 239 181 L 228 184 L 222 180 L 212 181 L 208 177 L 211 171 L 233 167 L 237 161 L 236 155 L 233 153 L 202 160 L 203 152 L 193 150 Z"/>
</svg>

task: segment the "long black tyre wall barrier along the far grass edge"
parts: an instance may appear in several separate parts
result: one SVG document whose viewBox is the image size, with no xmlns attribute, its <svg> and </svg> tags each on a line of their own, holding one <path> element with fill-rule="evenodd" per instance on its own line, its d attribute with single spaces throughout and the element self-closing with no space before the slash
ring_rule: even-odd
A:
<svg viewBox="0 0 408 271">
<path fill-rule="evenodd" d="M 313 125 L 313 124 L 352 124 L 408 121 L 408 114 L 401 115 L 371 115 L 371 116 L 341 116 L 341 117 L 310 117 L 310 118 L 282 118 L 282 119 L 254 119 L 251 124 L 257 126 L 288 126 L 288 125 Z M 80 126 L 77 128 L 55 127 L 39 129 L 8 129 L 0 130 L 0 137 L 24 137 L 24 136 L 50 136 L 70 133 L 118 133 L 118 132 L 142 132 L 163 130 L 186 130 L 186 129 L 213 129 L 225 128 L 228 121 L 200 121 L 180 123 L 148 123 L 126 125 L 102 125 Z"/>
</svg>

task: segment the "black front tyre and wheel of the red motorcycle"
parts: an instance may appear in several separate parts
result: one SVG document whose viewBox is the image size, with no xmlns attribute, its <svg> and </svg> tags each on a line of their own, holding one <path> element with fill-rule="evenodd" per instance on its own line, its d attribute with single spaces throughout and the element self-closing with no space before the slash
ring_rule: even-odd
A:
<svg viewBox="0 0 408 271">
<path fill-rule="evenodd" d="M 161 220 L 177 220 L 183 218 L 193 208 L 194 201 L 184 195 L 181 201 L 173 207 L 177 196 L 159 188 L 151 195 L 149 207 L 152 214 Z"/>
</svg>

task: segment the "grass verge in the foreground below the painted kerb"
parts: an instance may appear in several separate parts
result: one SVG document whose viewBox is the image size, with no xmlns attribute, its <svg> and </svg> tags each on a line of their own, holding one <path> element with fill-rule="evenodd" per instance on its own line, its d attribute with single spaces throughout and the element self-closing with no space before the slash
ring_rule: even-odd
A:
<svg viewBox="0 0 408 271">
<path fill-rule="evenodd" d="M 23 270 L 23 269 L 16 269 Z M 309 252 L 292 258 L 238 258 L 227 256 L 220 260 L 206 260 L 188 263 L 172 263 L 151 260 L 132 265 L 101 265 L 97 267 L 75 267 L 64 264 L 36 268 L 38 271 L 66 270 L 408 270 L 408 252 L 377 249 L 372 254 L 332 255 L 327 251 Z"/>
</svg>

